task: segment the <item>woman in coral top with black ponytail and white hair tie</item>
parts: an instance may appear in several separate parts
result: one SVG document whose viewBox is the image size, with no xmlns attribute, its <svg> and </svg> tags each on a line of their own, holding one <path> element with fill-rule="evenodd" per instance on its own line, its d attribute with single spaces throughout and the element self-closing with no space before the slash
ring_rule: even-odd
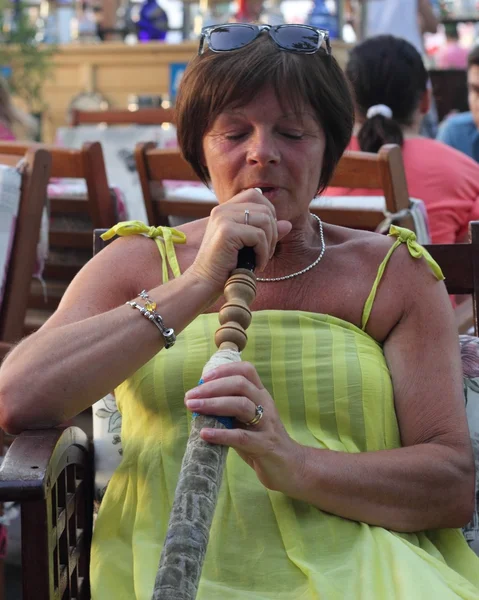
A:
<svg viewBox="0 0 479 600">
<path fill-rule="evenodd" d="M 399 144 L 409 195 L 425 203 L 433 243 L 465 241 L 469 222 L 479 218 L 479 165 L 445 144 L 419 136 L 430 96 L 417 50 L 392 36 L 371 38 L 353 48 L 346 75 L 356 113 L 348 148 L 377 152 L 383 144 Z M 328 196 L 380 193 L 326 191 Z"/>
</svg>

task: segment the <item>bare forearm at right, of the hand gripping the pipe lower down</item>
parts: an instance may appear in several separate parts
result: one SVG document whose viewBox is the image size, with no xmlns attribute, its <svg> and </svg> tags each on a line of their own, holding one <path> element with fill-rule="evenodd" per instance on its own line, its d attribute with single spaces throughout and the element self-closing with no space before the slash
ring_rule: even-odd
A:
<svg viewBox="0 0 479 600">
<path fill-rule="evenodd" d="M 460 527 L 474 506 L 472 456 L 438 443 L 358 454 L 303 447 L 292 472 L 289 496 L 396 531 Z"/>
</svg>

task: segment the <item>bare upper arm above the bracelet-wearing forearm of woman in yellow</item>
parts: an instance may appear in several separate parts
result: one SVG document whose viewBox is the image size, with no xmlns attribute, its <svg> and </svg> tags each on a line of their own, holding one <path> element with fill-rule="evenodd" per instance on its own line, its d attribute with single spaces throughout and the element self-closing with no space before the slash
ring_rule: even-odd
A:
<svg viewBox="0 0 479 600">
<path fill-rule="evenodd" d="M 68 286 L 42 329 L 60 327 L 117 308 L 141 289 L 161 281 L 161 258 L 153 240 L 119 238 L 95 255 Z"/>
</svg>

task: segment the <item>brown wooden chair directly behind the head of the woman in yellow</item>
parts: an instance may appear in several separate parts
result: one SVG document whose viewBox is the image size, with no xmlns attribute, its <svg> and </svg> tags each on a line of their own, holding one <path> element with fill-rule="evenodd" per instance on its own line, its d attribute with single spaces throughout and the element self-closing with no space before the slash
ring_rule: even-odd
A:
<svg viewBox="0 0 479 600">
<path fill-rule="evenodd" d="M 207 217 L 216 206 L 214 198 L 194 201 L 168 198 L 165 194 L 162 185 L 165 180 L 200 181 L 177 150 L 160 150 L 153 142 L 142 143 L 136 146 L 135 160 L 150 225 L 167 225 L 169 216 Z M 330 185 L 382 190 L 385 208 L 390 214 L 400 213 L 410 205 L 401 149 L 393 144 L 383 146 L 378 154 L 345 152 Z M 382 209 L 371 210 L 360 206 L 346 209 L 323 205 L 321 199 L 313 201 L 311 212 L 334 225 L 371 231 L 385 218 Z M 397 222 L 403 227 L 415 228 L 407 214 Z"/>
</svg>

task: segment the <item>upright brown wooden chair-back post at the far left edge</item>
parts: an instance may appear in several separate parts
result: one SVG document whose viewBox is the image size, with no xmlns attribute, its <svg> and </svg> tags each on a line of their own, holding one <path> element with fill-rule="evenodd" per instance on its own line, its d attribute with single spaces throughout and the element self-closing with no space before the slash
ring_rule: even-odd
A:
<svg viewBox="0 0 479 600">
<path fill-rule="evenodd" d="M 16 166 L 18 162 L 18 157 L 0 153 L 0 164 Z M 4 342 L 15 342 L 23 336 L 50 167 L 51 156 L 47 150 L 36 148 L 25 153 L 15 237 L 0 310 L 0 340 Z"/>
</svg>

